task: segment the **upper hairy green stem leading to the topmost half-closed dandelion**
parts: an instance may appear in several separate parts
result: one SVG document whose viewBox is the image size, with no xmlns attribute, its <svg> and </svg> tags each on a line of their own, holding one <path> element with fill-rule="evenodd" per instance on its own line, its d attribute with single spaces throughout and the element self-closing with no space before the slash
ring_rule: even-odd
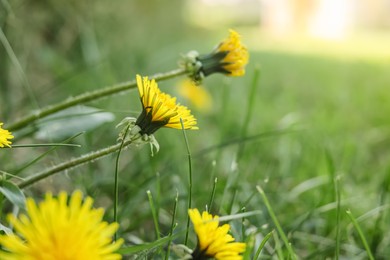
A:
<svg viewBox="0 0 390 260">
<path fill-rule="evenodd" d="M 165 73 L 158 73 L 150 77 L 150 79 L 154 79 L 156 81 L 162 81 L 170 78 L 174 78 L 180 75 L 185 74 L 186 71 L 184 69 L 176 69 Z M 92 92 L 83 93 L 81 95 L 75 96 L 73 98 L 69 98 L 60 103 L 44 107 L 42 109 L 34 111 L 32 114 L 25 116 L 16 122 L 13 122 L 8 125 L 7 129 L 10 131 L 16 131 L 27 125 L 33 123 L 34 121 L 46 117 L 48 115 L 54 114 L 55 112 L 61 111 L 63 109 L 86 103 L 92 100 L 96 100 L 102 97 L 107 97 L 119 92 L 123 92 L 129 89 L 133 89 L 137 86 L 137 82 L 135 80 L 127 81 L 123 83 L 119 83 L 114 86 L 106 87 L 103 89 L 98 89 Z"/>
</svg>

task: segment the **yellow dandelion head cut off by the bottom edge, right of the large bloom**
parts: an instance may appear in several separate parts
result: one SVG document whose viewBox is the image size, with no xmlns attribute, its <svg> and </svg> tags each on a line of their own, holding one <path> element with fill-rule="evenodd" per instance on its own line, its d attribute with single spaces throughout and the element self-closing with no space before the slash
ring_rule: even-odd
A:
<svg viewBox="0 0 390 260">
<path fill-rule="evenodd" d="M 212 216 L 207 211 L 202 215 L 197 209 L 190 209 L 188 214 L 198 236 L 198 245 L 192 253 L 193 259 L 242 259 L 246 244 L 234 242 L 228 234 L 230 225 L 219 226 L 218 216 Z"/>
</svg>

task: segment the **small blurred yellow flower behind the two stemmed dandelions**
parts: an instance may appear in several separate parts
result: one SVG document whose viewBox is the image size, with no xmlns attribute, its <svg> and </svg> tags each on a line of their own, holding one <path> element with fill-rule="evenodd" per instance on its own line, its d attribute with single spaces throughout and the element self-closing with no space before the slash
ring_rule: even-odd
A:
<svg viewBox="0 0 390 260">
<path fill-rule="evenodd" d="M 193 80 L 186 79 L 179 84 L 179 94 L 189 100 L 198 110 L 208 112 L 211 110 L 212 98 L 210 93 L 202 86 L 197 86 Z"/>
</svg>

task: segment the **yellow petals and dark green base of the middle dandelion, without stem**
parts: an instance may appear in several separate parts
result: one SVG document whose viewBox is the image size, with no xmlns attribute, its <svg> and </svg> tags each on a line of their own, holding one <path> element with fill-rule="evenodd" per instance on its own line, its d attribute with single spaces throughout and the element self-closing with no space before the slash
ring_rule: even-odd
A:
<svg viewBox="0 0 390 260">
<path fill-rule="evenodd" d="M 176 98 L 161 92 L 154 80 L 137 75 L 137 85 L 143 106 L 141 115 L 135 125 L 140 127 L 140 134 L 151 135 L 161 127 L 182 129 L 198 129 L 196 119 L 191 111 L 176 103 Z"/>
</svg>

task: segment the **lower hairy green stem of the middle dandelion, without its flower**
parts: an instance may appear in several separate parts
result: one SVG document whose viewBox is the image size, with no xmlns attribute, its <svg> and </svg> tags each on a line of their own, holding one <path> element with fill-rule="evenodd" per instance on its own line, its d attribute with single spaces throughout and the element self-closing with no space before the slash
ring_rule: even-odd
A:
<svg viewBox="0 0 390 260">
<path fill-rule="evenodd" d="M 80 157 L 77 157 L 77 158 L 74 158 L 70 161 L 66 161 L 66 162 L 63 162 L 63 163 L 60 163 L 60 164 L 57 164 L 49 169 L 46 169 L 44 171 L 41 171 L 27 179 L 25 179 L 24 181 L 20 182 L 18 184 L 19 188 L 23 189 L 23 188 L 26 188 L 34 183 L 36 183 L 37 181 L 40 181 L 46 177 L 49 177 L 53 174 L 56 174 L 56 173 L 59 173 L 59 172 L 62 172 L 64 170 L 67 170 L 67 169 L 70 169 L 70 168 L 74 168 L 74 167 L 77 167 L 81 164 L 84 164 L 86 162 L 89 162 L 89 161 L 93 161 L 93 160 L 97 160 L 97 159 L 100 159 L 106 155 L 109 155 L 111 153 L 114 153 L 118 150 L 121 149 L 121 147 L 126 147 L 128 145 L 130 145 L 132 143 L 132 140 L 129 140 L 129 141 L 126 141 L 123 143 L 123 146 L 122 146 L 122 143 L 117 143 L 117 144 L 114 144 L 112 146 L 109 146 L 109 147 L 106 147 L 106 148 L 103 148 L 101 150 L 98 150 L 98 151 L 94 151 L 94 152 L 91 152 L 91 153 L 87 153 L 87 154 L 84 154 Z"/>
</svg>

